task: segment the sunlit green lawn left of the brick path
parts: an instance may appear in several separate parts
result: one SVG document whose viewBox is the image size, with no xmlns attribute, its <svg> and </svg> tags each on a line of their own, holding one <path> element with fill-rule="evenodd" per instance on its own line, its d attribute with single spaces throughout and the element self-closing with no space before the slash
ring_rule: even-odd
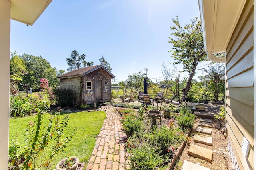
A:
<svg viewBox="0 0 256 170">
<path fill-rule="evenodd" d="M 64 117 L 60 115 L 60 117 Z M 46 115 L 44 123 L 48 123 L 49 114 Z M 71 113 L 69 116 L 68 125 L 64 131 L 64 135 L 69 134 L 75 127 L 77 127 L 77 133 L 72 139 L 64 152 L 59 152 L 58 155 L 54 156 L 53 161 L 50 163 L 48 169 L 54 169 L 56 164 L 63 158 L 70 156 L 76 156 L 79 158 L 80 162 L 88 163 L 92 150 L 94 149 L 96 137 L 100 132 L 103 121 L 106 117 L 104 111 L 95 111 L 95 112 L 77 112 Z M 60 118 L 60 119 L 61 119 Z M 26 143 L 24 142 L 24 133 L 26 131 L 29 121 L 34 122 L 35 116 L 28 117 L 18 117 L 12 118 L 9 121 L 9 143 L 15 136 L 18 134 L 17 141 L 22 145 L 22 149 Z M 44 150 L 40 156 L 40 160 L 44 160 L 48 157 L 51 152 L 51 147 L 53 143 L 49 144 L 47 149 Z M 39 161 L 40 161 L 39 160 Z"/>
</svg>

